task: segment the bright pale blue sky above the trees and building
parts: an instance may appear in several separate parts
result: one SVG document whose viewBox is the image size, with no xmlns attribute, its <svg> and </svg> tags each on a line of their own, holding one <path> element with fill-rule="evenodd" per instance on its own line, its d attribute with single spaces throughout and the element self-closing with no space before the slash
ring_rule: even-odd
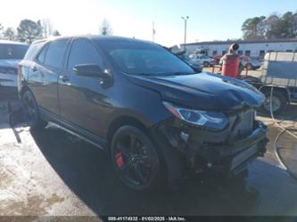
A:
<svg viewBox="0 0 297 222">
<path fill-rule="evenodd" d="M 153 40 L 161 45 L 242 37 L 248 18 L 297 12 L 296 0 L 1 0 L 0 23 L 16 28 L 20 21 L 48 19 L 62 35 L 98 34 L 106 19 L 113 35 Z"/>
</svg>

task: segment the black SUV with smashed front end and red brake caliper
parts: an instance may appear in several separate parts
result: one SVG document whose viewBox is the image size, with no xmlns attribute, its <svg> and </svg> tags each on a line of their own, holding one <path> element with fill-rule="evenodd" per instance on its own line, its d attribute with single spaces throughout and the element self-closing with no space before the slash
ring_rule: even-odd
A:
<svg viewBox="0 0 297 222">
<path fill-rule="evenodd" d="M 177 185 L 197 171 L 238 174 L 266 151 L 264 96 L 243 81 L 196 74 L 151 42 L 59 37 L 30 45 L 19 95 L 31 127 L 51 122 L 111 153 L 125 185 Z"/>
</svg>

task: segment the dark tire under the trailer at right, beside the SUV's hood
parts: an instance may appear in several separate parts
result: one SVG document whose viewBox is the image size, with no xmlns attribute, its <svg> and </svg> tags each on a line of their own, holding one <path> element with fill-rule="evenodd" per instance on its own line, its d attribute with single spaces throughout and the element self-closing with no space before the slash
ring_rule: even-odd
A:
<svg viewBox="0 0 297 222">
<path fill-rule="evenodd" d="M 270 90 L 264 92 L 264 95 L 266 97 L 266 101 L 262 105 L 262 110 L 265 111 L 266 113 L 270 114 L 270 102 L 269 102 L 270 101 L 269 100 Z M 274 90 L 273 98 L 274 98 L 273 101 L 275 101 L 275 104 L 276 104 L 276 105 L 273 104 L 273 106 L 275 108 L 273 113 L 279 114 L 279 113 L 285 111 L 285 107 L 286 107 L 286 103 L 287 103 L 287 99 L 286 99 L 285 95 L 282 92 Z"/>
</svg>

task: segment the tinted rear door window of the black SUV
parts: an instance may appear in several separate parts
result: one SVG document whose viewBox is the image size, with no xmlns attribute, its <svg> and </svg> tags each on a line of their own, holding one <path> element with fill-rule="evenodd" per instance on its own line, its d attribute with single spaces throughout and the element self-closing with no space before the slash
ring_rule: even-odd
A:
<svg viewBox="0 0 297 222">
<path fill-rule="evenodd" d="M 48 46 L 45 64 L 54 68 L 62 68 L 63 56 L 66 50 L 68 39 L 56 40 Z"/>
</svg>

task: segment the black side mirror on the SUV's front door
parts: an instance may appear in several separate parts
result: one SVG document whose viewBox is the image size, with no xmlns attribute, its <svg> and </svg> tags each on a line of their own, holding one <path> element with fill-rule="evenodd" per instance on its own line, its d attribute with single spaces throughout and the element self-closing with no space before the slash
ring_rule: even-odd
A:
<svg viewBox="0 0 297 222">
<path fill-rule="evenodd" d="M 80 64 L 73 67 L 74 72 L 79 76 L 106 78 L 108 73 L 104 72 L 97 64 Z"/>
</svg>

